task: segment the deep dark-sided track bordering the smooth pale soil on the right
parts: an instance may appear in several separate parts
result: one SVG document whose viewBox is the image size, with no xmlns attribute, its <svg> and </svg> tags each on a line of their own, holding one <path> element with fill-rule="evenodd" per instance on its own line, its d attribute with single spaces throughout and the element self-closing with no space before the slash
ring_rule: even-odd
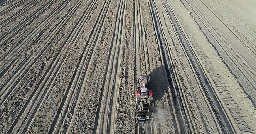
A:
<svg viewBox="0 0 256 134">
<path fill-rule="evenodd" d="M 171 7 L 166 0 L 163 0 L 163 5 L 166 8 L 170 21 L 172 21 L 173 28 L 175 29 L 176 34 L 180 39 L 182 47 L 187 53 L 187 58 L 188 60 L 190 60 L 192 67 L 194 68 L 194 73 L 197 75 L 196 77 L 199 80 L 199 83 L 204 91 L 204 95 L 207 97 L 207 101 L 210 104 L 215 118 L 218 121 L 216 125 L 219 126 L 218 128 L 221 128 L 219 132 L 239 133 L 239 129 L 233 121 L 234 119 L 232 118 L 225 104 L 223 104 L 224 102 L 222 101 L 220 96 L 216 93 L 216 89 L 214 89 L 213 86 L 214 83 L 211 83 L 211 80 L 209 80 L 209 75 L 206 74 L 207 71 L 204 69 L 199 57 L 197 57 L 190 43 L 187 41 L 187 38 L 185 37 L 184 32 L 180 28 L 180 24 L 177 21 Z"/>
</svg>

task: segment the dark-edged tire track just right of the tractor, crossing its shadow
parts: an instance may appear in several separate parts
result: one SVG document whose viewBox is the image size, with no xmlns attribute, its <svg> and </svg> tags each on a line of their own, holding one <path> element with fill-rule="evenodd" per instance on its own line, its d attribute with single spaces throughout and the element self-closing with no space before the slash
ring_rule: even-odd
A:
<svg viewBox="0 0 256 134">
<path fill-rule="evenodd" d="M 176 81 L 177 74 L 173 71 L 173 60 L 170 55 L 171 52 L 168 49 L 168 45 L 165 39 L 165 35 L 162 30 L 162 26 L 158 17 L 157 9 L 155 6 L 155 2 L 152 0 L 148 0 L 152 11 L 152 20 L 155 24 L 155 33 L 157 35 L 158 44 L 160 45 L 160 54 L 162 55 L 162 60 L 165 66 L 165 71 L 167 73 L 168 82 L 170 85 L 169 95 L 172 96 L 173 104 L 175 109 L 172 109 L 172 113 L 177 117 L 173 118 L 175 121 L 175 129 L 176 132 L 180 133 L 196 133 L 194 129 L 194 125 L 191 119 L 191 115 L 187 109 L 187 105 L 185 103 L 184 98 L 182 97 L 182 91 L 180 91 L 180 87 Z M 172 105 L 172 103 L 169 103 Z M 172 108 L 172 106 L 170 106 Z"/>
</svg>

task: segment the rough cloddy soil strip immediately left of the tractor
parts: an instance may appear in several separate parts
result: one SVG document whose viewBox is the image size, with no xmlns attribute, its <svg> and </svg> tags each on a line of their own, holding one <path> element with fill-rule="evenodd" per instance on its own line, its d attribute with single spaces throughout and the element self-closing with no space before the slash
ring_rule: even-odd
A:
<svg viewBox="0 0 256 134">
<path fill-rule="evenodd" d="M 120 72 L 120 87 L 116 90 L 119 92 L 118 105 L 116 109 L 115 117 L 115 133 L 134 133 L 136 132 L 135 125 L 135 90 L 134 88 L 134 36 L 133 36 L 133 14 L 134 14 L 134 1 L 126 1 L 125 6 L 125 21 L 124 21 L 124 40 L 123 40 L 123 55 L 121 62 L 121 72 Z M 118 75 L 117 75 L 118 78 Z M 112 118 L 113 116 L 111 116 Z M 111 119 L 111 121 L 114 121 Z M 114 127 L 114 125 L 111 124 Z M 112 128 L 110 128 L 112 130 Z M 112 132 L 110 132 L 112 133 Z"/>
</svg>

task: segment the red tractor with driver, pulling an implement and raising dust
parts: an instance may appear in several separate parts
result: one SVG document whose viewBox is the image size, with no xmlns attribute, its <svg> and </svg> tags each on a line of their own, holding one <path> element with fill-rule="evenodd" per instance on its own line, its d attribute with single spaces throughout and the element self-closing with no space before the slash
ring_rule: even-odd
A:
<svg viewBox="0 0 256 134">
<path fill-rule="evenodd" d="M 136 91 L 136 104 L 137 114 L 136 123 L 144 124 L 149 123 L 153 119 L 153 113 L 150 108 L 150 104 L 153 101 L 153 92 L 148 89 L 149 78 L 147 76 L 140 76 L 137 83 Z"/>
</svg>

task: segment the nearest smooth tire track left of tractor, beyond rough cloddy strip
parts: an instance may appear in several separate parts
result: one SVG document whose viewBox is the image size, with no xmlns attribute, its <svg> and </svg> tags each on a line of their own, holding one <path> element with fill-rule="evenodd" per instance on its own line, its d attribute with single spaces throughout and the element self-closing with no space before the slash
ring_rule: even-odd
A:
<svg viewBox="0 0 256 134">
<path fill-rule="evenodd" d="M 113 38 L 111 52 L 106 65 L 106 74 L 101 89 L 99 108 L 97 109 L 96 121 L 93 133 L 114 133 L 116 123 L 116 111 L 120 90 L 121 61 L 123 54 L 124 26 L 126 14 L 126 0 L 120 1 Z M 119 46 L 120 44 L 120 46 Z"/>
</svg>

